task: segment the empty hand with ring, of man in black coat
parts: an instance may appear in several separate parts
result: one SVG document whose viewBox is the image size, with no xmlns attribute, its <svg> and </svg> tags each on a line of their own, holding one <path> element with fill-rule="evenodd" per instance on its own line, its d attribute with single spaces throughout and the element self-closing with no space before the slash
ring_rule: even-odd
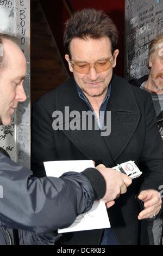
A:
<svg viewBox="0 0 163 256">
<path fill-rule="evenodd" d="M 160 193 L 154 189 L 142 190 L 138 197 L 143 201 L 145 210 L 139 213 L 138 219 L 152 218 L 153 215 L 158 215 L 161 210 Z"/>
</svg>

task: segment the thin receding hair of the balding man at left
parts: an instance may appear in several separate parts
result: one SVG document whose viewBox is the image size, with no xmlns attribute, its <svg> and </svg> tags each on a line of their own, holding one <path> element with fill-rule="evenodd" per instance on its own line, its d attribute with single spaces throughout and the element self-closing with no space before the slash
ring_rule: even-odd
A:
<svg viewBox="0 0 163 256">
<path fill-rule="evenodd" d="M 7 66 L 7 61 L 4 58 L 4 52 L 3 52 L 3 40 L 4 39 L 8 39 L 8 40 L 12 41 L 13 43 L 15 43 L 16 45 L 18 45 L 16 37 L 13 37 L 8 34 L 0 33 L 0 47 L 2 47 L 2 49 L 0 49 L 0 53 L 1 52 L 3 53 L 2 56 L 0 55 L 0 71 Z"/>
</svg>

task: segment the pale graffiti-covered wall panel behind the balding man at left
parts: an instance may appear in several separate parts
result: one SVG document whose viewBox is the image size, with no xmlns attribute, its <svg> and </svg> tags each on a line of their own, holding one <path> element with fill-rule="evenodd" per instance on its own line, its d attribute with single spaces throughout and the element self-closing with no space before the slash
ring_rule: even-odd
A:
<svg viewBox="0 0 163 256">
<path fill-rule="evenodd" d="M 30 167 L 30 0 L 0 0 L 0 32 L 15 35 L 27 58 L 27 100 L 18 103 L 9 126 L 0 126 L 0 146 L 12 160 Z"/>
</svg>

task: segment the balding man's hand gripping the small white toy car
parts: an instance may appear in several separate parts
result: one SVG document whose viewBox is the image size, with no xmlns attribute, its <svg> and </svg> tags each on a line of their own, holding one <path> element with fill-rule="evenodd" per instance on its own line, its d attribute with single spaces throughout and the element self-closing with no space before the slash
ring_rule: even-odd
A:
<svg viewBox="0 0 163 256">
<path fill-rule="evenodd" d="M 104 201 L 107 207 L 114 205 L 114 199 L 118 198 L 120 194 L 124 194 L 127 191 L 127 187 L 130 186 L 132 180 L 120 171 L 106 168 L 105 165 L 99 164 L 96 169 L 101 172 L 106 182 L 106 193 L 101 201 Z"/>
</svg>

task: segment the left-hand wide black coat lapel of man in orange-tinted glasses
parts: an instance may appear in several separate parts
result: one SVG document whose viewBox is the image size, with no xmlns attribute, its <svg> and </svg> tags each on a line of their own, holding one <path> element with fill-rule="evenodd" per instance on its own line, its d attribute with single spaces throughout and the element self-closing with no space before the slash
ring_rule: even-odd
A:
<svg viewBox="0 0 163 256">
<path fill-rule="evenodd" d="M 76 83 L 74 79 L 69 79 L 65 86 L 58 87 L 56 93 L 57 110 L 65 113 L 65 106 L 69 106 L 69 111 L 78 111 L 82 123 L 82 111 L 89 111 L 86 103 L 79 98 Z M 67 120 L 66 126 L 70 126 L 73 118 Z M 95 118 L 93 117 L 93 122 Z M 65 124 L 65 118 L 64 118 Z M 101 132 L 99 130 L 62 130 L 68 139 L 81 151 L 86 159 L 95 160 L 96 164 L 103 163 L 106 165 L 106 159 L 109 158 L 108 147 L 106 146 Z M 108 161 L 107 161 L 108 162 Z M 110 163 L 112 159 L 110 157 Z M 112 164 L 114 165 L 114 164 Z"/>
</svg>

